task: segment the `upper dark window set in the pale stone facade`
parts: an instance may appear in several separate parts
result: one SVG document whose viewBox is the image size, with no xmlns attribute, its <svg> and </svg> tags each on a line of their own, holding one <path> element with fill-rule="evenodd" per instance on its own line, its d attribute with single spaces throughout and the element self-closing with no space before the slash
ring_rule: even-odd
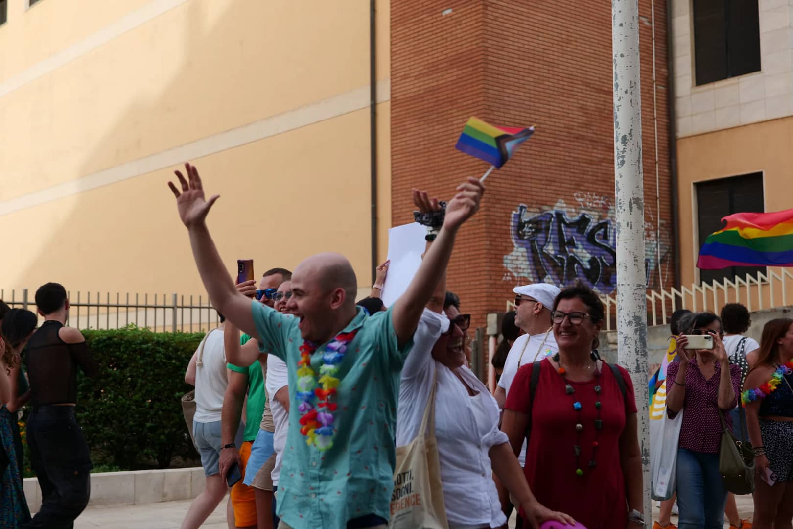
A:
<svg viewBox="0 0 793 529">
<path fill-rule="evenodd" d="M 760 71 L 757 0 L 694 0 L 696 84 Z"/>
</svg>

